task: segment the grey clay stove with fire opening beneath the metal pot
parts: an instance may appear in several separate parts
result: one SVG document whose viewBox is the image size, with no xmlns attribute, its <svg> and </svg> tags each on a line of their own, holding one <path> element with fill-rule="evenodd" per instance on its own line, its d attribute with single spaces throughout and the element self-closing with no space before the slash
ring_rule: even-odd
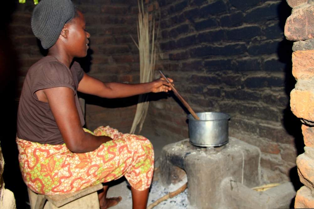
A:
<svg viewBox="0 0 314 209">
<path fill-rule="evenodd" d="M 160 178 L 165 186 L 187 178 L 188 200 L 197 208 L 269 208 L 271 194 L 250 189 L 261 184 L 260 157 L 258 147 L 233 137 L 224 146 L 206 148 L 185 139 L 163 147 Z M 282 200 L 292 199 L 292 184 L 282 187 Z"/>
</svg>

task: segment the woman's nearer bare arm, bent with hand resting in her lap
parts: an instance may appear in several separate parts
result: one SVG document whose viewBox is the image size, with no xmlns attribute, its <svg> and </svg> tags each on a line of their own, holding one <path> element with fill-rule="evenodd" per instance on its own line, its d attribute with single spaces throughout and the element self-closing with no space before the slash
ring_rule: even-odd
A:
<svg viewBox="0 0 314 209">
<path fill-rule="evenodd" d="M 91 135 L 82 129 L 72 89 L 56 87 L 41 90 L 41 93 L 43 93 L 41 97 L 46 96 L 63 140 L 70 151 L 78 153 L 93 151 L 102 143 L 112 140 L 108 136 Z"/>
</svg>

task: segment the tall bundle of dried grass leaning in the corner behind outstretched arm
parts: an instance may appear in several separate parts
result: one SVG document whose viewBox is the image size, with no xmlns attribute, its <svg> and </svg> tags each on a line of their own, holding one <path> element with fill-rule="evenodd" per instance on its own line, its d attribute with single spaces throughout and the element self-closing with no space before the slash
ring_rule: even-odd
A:
<svg viewBox="0 0 314 209">
<path fill-rule="evenodd" d="M 140 82 L 150 82 L 153 80 L 154 66 L 156 59 L 156 50 L 154 46 L 155 40 L 155 20 L 149 20 L 149 14 L 144 10 L 143 0 L 140 4 L 138 1 L 138 44 L 134 43 L 139 50 L 140 61 Z M 139 131 L 143 128 L 143 123 L 147 115 L 149 102 L 147 101 L 147 95 L 142 94 L 138 98 L 138 104 L 136 107 L 136 113 L 133 120 L 133 124 L 130 130 L 131 134 L 134 134 L 136 127 L 139 125 Z"/>
</svg>

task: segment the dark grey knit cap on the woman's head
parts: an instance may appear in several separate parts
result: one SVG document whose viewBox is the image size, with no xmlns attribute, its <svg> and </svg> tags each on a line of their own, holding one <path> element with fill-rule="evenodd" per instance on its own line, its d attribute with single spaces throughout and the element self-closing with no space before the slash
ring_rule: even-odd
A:
<svg viewBox="0 0 314 209">
<path fill-rule="evenodd" d="M 34 35 L 44 49 L 58 40 L 64 24 L 75 16 L 71 0 L 41 0 L 34 8 L 31 25 Z"/>
</svg>

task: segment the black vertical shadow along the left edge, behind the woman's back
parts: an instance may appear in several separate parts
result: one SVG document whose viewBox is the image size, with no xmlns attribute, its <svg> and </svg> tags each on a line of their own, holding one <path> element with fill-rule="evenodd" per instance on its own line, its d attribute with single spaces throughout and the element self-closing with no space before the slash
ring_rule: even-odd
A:
<svg viewBox="0 0 314 209">
<path fill-rule="evenodd" d="M 18 1 L 6 1 L 1 7 L 0 30 L 0 93 L 1 129 L 0 141 L 5 161 L 3 179 L 5 188 L 14 193 L 17 208 L 26 208 L 28 201 L 26 185 L 19 170 L 18 149 L 15 142 L 17 113 L 17 52 L 13 50 L 8 24 Z"/>
</svg>

